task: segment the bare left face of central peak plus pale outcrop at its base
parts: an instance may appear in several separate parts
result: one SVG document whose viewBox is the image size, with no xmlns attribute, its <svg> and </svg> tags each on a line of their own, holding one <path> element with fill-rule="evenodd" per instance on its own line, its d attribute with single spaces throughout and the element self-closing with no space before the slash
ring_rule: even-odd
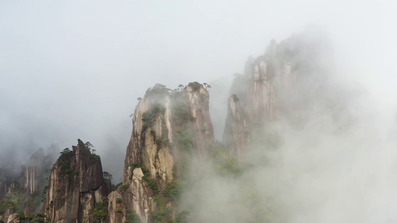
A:
<svg viewBox="0 0 397 223">
<path fill-rule="evenodd" d="M 153 194 L 142 179 L 141 168 L 135 168 L 134 164 L 142 163 L 158 185 L 173 179 L 171 109 L 170 96 L 164 93 L 163 85 L 156 84 L 146 92 L 134 112 L 133 132 L 123 173 L 123 185 L 128 185 L 128 188 L 123 191 L 123 198 L 127 207 L 135 210 L 143 223 L 149 221 Z"/>
</svg>

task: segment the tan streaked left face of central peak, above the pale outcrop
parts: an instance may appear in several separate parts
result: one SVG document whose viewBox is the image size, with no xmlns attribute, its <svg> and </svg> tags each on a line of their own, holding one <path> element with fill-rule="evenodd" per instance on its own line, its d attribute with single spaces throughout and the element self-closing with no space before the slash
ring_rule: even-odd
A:
<svg viewBox="0 0 397 223">
<path fill-rule="evenodd" d="M 173 179 L 171 148 L 168 144 L 159 143 L 159 140 L 173 142 L 171 100 L 161 92 L 160 95 L 154 94 L 146 94 L 135 109 L 133 132 L 125 158 L 124 184 L 128 183 L 133 163 L 143 163 L 152 178 L 160 174 L 164 182 Z M 147 119 L 143 119 L 144 113 L 149 116 Z"/>
</svg>

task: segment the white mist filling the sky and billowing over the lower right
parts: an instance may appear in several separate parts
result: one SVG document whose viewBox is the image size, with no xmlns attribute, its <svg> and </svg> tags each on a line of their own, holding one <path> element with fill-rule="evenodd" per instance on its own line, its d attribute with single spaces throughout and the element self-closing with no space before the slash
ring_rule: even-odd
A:
<svg viewBox="0 0 397 223">
<path fill-rule="evenodd" d="M 261 168 L 253 161 L 259 167 L 249 179 L 263 198 L 258 203 L 277 200 L 274 206 L 296 223 L 397 221 L 395 8 L 393 0 L 2 1 L 0 167 L 19 167 L 39 147 L 71 148 L 80 138 L 95 146 L 118 183 L 129 115 L 155 83 L 210 83 L 221 140 L 233 74 L 243 73 L 247 57 L 263 54 L 270 40 L 315 24 L 333 46 L 337 87 L 330 94 L 354 124 L 339 130 L 343 121 L 333 123 L 321 109 L 310 111 L 302 129 L 276 123 L 281 149 L 264 154 L 258 145 L 251 154 L 272 163 Z M 347 100 L 354 89 L 365 94 Z M 210 219 L 245 217 L 224 203 L 241 186 L 215 173 L 205 180 L 218 196 L 200 203 L 203 211 L 224 206 Z"/>
</svg>

